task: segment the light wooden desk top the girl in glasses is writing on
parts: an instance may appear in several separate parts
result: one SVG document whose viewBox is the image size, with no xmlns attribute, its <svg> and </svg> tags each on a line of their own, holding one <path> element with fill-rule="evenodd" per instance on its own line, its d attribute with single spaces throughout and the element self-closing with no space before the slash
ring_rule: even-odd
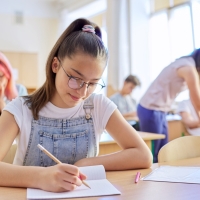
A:
<svg viewBox="0 0 200 200">
<path fill-rule="evenodd" d="M 134 159 L 134 158 L 133 158 Z M 121 195 L 75 198 L 73 200 L 199 200 L 200 185 L 139 181 L 135 183 L 135 175 L 139 171 L 142 177 L 159 165 L 198 166 L 200 157 L 181 161 L 153 164 L 150 169 L 106 172 L 107 179 L 122 193 Z M 0 200 L 26 200 L 26 189 L 0 187 Z"/>
</svg>

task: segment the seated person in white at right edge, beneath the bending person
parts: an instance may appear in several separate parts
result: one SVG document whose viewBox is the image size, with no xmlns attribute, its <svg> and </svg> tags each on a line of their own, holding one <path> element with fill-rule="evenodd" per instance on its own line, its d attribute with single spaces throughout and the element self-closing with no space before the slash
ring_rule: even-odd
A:
<svg viewBox="0 0 200 200">
<path fill-rule="evenodd" d="M 188 133 L 200 136 L 199 117 L 190 99 L 179 103 L 177 113 L 181 116 Z"/>
</svg>

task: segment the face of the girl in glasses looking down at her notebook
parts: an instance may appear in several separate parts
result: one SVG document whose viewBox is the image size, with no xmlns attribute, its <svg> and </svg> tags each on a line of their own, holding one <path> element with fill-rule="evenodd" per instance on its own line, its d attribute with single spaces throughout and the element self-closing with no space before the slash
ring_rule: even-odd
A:
<svg viewBox="0 0 200 200">
<path fill-rule="evenodd" d="M 71 108 L 79 104 L 90 93 L 87 85 L 80 89 L 69 87 L 69 76 L 82 79 L 86 83 L 97 83 L 105 69 L 105 62 L 88 54 L 77 53 L 72 58 L 65 57 L 59 61 L 56 57 L 52 62 L 52 70 L 56 73 L 56 91 L 51 102 L 60 108 Z"/>
</svg>

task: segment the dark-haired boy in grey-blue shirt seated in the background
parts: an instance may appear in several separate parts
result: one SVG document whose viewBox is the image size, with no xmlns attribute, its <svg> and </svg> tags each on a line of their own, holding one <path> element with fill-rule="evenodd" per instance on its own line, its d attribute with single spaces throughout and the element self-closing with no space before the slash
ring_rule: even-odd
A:
<svg viewBox="0 0 200 200">
<path fill-rule="evenodd" d="M 131 97 L 131 93 L 135 87 L 140 85 L 140 80 L 136 76 L 129 75 L 124 80 L 122 89 L 110 97 L 125 118 L 137 116 L 136 101 Z"/>
</svg>

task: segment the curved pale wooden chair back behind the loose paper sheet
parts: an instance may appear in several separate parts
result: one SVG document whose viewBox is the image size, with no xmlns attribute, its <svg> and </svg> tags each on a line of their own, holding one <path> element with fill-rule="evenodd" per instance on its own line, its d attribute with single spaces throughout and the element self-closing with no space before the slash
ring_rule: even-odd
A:
<svg viewBox="0 0 200 200">
<path fill-rule="evenodd" d="M 195 157 L 200 157 L 200 136 L 184 136 L 164 145 L 158 153 L 158 162 L 169 162 Z"/>
</svg>

